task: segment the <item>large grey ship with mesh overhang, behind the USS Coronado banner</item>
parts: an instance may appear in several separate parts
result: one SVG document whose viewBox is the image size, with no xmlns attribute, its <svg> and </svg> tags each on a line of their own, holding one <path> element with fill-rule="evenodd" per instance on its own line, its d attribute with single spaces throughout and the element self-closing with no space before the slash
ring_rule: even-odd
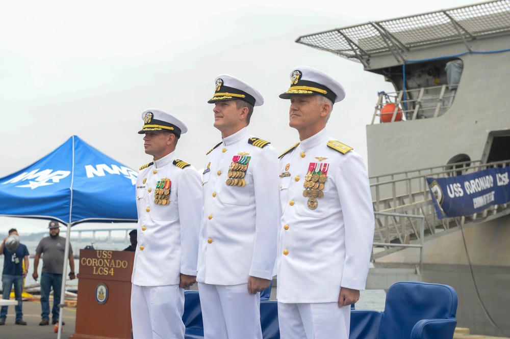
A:
<svg viewBox="0 0 510 339">
<path fill-rule="evenodd" d="M 395 89 L 373 98 L 367 126 L 376 212 L 367 288 L 448 284 L 459 296 L 458 326 L 510 333 L 510 204 L 439 219 L 426 181 L 510 166 L 510 0 L 296 42 L 360 62 Z"/>
</svg>

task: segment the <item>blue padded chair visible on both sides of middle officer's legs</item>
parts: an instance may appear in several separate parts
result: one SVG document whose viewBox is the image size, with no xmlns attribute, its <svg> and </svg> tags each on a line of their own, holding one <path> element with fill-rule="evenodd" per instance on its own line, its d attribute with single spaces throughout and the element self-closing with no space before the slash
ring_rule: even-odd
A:
<svg viewBox="0 0 510 339">
<path fill-rule="evenodd" d="M 202 310 L 198 291 L 184 291 L 183 322 L 186 326 L 185 339 L 203 339 Z M 264 339 L 279 339 L 280 330 L 276 301 L 260 301 L 260 324 Z"/>
</svg>

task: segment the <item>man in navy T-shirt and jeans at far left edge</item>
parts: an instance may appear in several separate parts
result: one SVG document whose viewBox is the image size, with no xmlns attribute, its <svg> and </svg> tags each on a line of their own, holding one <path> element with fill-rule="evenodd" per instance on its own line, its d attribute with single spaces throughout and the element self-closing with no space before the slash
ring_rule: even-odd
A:
<svg viewBox="0 0 510 339">
<path fill-rule="evenodd" d="M 16 229 L 9 230 L 9 237 L 11 235 L 18 235 Z M 6 237 L 2 244 L 0 244 L 0 253 L 4 255 L 4 270 L 2 271 L 2 299 L 9 299 L 11 296 L 11 289 L 14 285 L 14 297 L 18 304 L 14 307 L 16 310 L 16 325 L 27 325 L 23 321 L 23 300 L 21 294 L 23 293 L 23 279 L 27 276 L 29 269 L 29 250 L 27 246 L 19 243 L 17 248 L 9 250 L 6 246 Z M 16 246 L 15 246 L 16 247 Z M 2 306 L 0 311 L 0 325 L 5 325 L 7 318 L 7 308 L 9 306 Z"/>
</svg>

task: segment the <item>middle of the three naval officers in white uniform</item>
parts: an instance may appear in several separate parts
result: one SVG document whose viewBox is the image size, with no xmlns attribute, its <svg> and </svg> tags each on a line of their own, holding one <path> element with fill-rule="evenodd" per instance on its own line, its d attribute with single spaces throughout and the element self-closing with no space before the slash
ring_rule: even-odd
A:
<svg viewBox="0 0 510 339">
<path fill-rule="evenodd" d="M 278 229 L 278 155 L 246 130 L 264 100 L 230 75 L 216 78 L 214 127 L 222 142 L 208 152 L 198 291 L 205 339 L 262 339 L 260 291 L 273 277 Z"/>
</svg>

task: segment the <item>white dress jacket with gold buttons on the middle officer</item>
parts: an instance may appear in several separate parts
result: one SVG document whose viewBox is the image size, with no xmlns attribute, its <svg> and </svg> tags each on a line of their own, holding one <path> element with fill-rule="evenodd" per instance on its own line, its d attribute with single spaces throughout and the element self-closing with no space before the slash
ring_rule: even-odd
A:
<svg viewBox="0 0 510 339">
<path fill-rule="evenodd" d="M 250 157 L 245 185 L 227 185 L 229 167 L 239 156 Z M 202 181 L 197 281 L 240 285 L 249 275 L 272 279 L 278 230 L 274 148 L 243 128 L 210 151 Z"/>
</svg>

